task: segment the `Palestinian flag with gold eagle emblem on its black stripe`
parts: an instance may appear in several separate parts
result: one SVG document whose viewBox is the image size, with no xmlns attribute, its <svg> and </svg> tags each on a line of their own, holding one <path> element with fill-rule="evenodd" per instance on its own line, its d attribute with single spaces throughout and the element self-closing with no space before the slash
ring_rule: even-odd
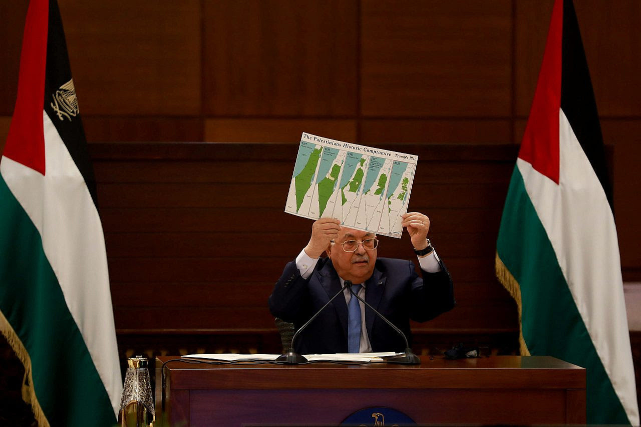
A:
<svg viewBox="0 0 641 427">
<path fill-rule="evenodd" d="M 0 161 L 0 329 L 42 426 L 113 426 L 122 394 L 92 166 L 55 0 L 29 4 Z"/>
</svg>

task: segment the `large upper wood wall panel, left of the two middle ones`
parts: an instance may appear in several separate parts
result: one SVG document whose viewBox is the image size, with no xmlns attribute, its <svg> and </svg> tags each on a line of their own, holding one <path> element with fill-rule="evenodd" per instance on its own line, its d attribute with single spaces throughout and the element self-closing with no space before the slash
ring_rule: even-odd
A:
<svg viewBox="0 0 641 427">
<path fill-rule="evenodd" d="M 356 1 L 204 2 L 210 115 L 356 114 Z"/>
</svg>

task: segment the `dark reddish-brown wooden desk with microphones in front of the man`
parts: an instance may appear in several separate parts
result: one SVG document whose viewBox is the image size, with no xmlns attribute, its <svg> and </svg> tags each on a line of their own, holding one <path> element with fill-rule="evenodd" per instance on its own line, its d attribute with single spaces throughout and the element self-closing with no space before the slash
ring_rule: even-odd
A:
<svg viewBox="0 0 641 427">
<path fill-rule="evenodd" d="M 157 420 L 160 366 L 169 359 L 156 359 Z M 421 357 L 418 366 L 170 362 L 165 371 L 171 425 L 340 424 L 367 407 L 422 424 L 585 423 L 585 369 L 553 357 Z"/>
</svg>

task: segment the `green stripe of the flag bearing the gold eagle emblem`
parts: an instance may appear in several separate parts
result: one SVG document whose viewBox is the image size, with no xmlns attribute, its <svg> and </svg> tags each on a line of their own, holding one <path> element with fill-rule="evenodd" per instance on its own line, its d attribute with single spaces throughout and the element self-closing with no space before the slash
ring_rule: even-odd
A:
<svg viewBox="0 0 641 427">
<path fill-rule="evenodd" d="M 51 425 L 113 425 L 109 396 L 40 234 L 1 175 L 0 200 L 0 310 L 29 353 L 40 407 Z"/>
</svg>

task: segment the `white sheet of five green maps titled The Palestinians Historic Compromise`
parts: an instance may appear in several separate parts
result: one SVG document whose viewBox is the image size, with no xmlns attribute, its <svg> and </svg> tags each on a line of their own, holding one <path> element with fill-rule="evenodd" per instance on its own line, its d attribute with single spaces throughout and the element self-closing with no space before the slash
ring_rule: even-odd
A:
<svg viewBox="0 0 641 427">
<path fill-rule="evenodd" d="M 303 133 L 285 212 L 401 238 L 418 159 Z"/>
</svg>

